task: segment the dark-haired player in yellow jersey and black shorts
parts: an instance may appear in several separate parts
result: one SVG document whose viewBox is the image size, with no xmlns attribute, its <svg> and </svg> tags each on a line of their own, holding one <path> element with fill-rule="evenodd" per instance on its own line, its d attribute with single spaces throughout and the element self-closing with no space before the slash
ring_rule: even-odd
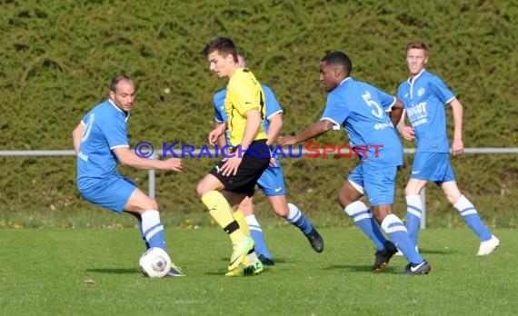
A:
<svg viewBox="0 0 518 316">
<path fill-rule="evenodd" d="M 233 243 L 227 275 L 258 274 L 263 271 L 261 262 L 255 261 L 255 269 L 250 269 L 246 260 L 254 252 L 254 240 L 240 228 L 233 210 L 245 196 L 254 195 L 255 184 L 270 162 L 268 136 L 262 126 L 264 92 L 254 74 L 239 65 L 230 38 L 215 38 L 205 45 L 204 54 L 210 70 L 229 79 L 224 99 L 228 121 L 211 131 L 208 141 L 214 145 L 228 129 L 233 149 L 197 184 L 196 193 Z"/>
</svg>

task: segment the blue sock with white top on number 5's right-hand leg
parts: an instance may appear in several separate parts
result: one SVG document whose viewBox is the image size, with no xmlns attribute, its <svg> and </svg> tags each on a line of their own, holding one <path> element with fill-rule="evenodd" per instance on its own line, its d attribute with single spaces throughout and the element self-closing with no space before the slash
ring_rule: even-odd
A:
<svg viewBox="0 0 518 316">
<path fill-rule="evenodd" d="M 395 246 L 403 252 L 408 262 L 421 263 L 424 261 L 419 252 L 415 250 L 415 245 L 408 237 L 408 232 L 403 222 L 396 215 L 387 215 L 384 218 L 384 222 L 382 222 L 382 228 L 390 236 Z"/>
</svg>

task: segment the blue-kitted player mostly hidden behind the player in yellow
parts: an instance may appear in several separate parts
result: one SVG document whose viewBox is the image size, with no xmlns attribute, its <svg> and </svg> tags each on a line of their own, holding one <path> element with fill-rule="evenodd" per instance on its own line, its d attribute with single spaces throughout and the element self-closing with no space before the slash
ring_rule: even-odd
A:
<svg viewBox="0 0 518 316">
<path fill-rule="evenodd" d="M 238 55 L 239 64 L 243 68 L 247 68 L 246 61 L 242 55 Z M 263 123 L 264 132 L 268 134 L 268 145 L 274 143 L 277 135 L 283 127 L 283 109 L 277 102 L 274 92 L 266 85 L 262 84 L 264 91 L 264 99 L 266 104 L 266 116 Z M 227 115 L 224 112 L 224 98 L 226 89 L 218 91 L 214 94 L 214 116 L 218 124 L 227 121 Z M 225 135 L 219 139 L 220 147 L 228 143 Z M 284 183 L 283 168 L 279 157 L 273 157 L 268 168 L 257 181 L 257 185 L 267 196 L 274 212 L 298 227 L 306 236 L 315 252 L 324 251 L 324 241 L 320 234 L 314 229 L 313 224 L 304 216 L 299 208 L 293 203 L 286 201 L 286 185 Z M 239 204 L 238 209 L 244 213 L 244 218 L 250 227 L 252 238 L 255 242 L 255 252 L 259 254 L 259 259 L 266 265 L 274 265 L 272 254 L 268 251 L 264 242 L 263 230 L 257 222 L 254 215 L 253 197 L 246 197 Z"/>
</svg>

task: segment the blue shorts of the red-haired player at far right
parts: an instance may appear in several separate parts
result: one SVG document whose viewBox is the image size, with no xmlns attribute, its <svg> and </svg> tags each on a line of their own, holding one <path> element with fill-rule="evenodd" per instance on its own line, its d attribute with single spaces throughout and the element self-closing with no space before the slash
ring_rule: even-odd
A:
<svg viewBox="0 0 518 316">
<path fill-rule="evenodd" d="M 449 153 L 415 153 L 411 179 L 433 181 L 439 185 L 455 181 Z"/>
</svg>

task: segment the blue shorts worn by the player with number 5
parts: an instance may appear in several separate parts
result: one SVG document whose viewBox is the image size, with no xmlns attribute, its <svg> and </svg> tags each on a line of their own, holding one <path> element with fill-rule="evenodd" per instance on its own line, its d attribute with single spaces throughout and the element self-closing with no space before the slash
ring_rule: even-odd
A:
<svg viewBox="0 0 518 316">
<path fill-rule="evenodd" d="M 398 166 L 361 163 L 349 174 L 349 181 L 364 188 L 372 206 L 393 204 Z"/>
</svg>

